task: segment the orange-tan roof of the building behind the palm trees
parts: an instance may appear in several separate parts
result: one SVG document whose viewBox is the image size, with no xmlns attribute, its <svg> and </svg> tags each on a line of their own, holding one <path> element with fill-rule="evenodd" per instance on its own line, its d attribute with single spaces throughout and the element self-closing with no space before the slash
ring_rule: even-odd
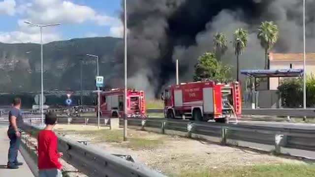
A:
<svg viewBox="0 0 315 177">
<path fill-rule="evenodd" d="M 269 53 L 269 60 L 272 61 L 303 61 L 303 53 Z M 315 53 L 307 53 L 306 60 L 315 61 Z"/>
</svg>

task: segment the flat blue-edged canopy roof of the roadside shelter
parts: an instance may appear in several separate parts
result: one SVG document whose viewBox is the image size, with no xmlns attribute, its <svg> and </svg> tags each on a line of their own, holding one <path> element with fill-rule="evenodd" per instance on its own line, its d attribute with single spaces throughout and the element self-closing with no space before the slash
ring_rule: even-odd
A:
<svg viewBox="0 0 315 177">
<path fill-rule="evenodd" d="M 300 77 L 303 69 L 241 70 L 241 74 L 252 77 Z"/>
</svg>

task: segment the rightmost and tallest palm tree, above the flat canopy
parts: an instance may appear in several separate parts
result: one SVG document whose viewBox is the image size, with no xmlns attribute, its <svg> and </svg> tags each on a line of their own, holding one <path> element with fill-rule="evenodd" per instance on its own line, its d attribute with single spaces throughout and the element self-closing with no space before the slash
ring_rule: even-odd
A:
<svg viewBox="0 0 315 177">
<path fill-rule="evenodd" d="M 258 28 L 257 38 L 260 45 L 265 49 L 265 69 L 268 69 L 268 52 L 272 49 L 279 38 L 279 29 L 273 22 L 262 22 Z"/>
</svg>

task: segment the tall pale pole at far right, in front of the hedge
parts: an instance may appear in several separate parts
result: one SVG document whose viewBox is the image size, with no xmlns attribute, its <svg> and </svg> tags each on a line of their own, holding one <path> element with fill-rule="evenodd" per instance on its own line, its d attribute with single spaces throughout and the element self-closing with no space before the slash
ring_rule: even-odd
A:
<svg viewBox="0 0 315 177">
<path fill-rule="evenodd" d="M 303 108 L 306 109 L 306 32 L 305 32 L 305 0 L 303 0 L 303 44 L 304 44 L 304 54 L 303 54 Z M 306 120 L 306 117 L 304 117 Z"/>
</svg>

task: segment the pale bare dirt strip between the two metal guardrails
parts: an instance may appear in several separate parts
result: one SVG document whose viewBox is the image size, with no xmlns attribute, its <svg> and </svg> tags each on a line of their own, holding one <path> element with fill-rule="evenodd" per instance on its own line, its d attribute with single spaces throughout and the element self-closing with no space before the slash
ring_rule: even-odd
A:
<svg viewBox="0 0 315 177">
<path fill-rule="evenodd" d="M 95 135 L 82 133 L 91 129 L 96 131 L 95 126 L 58 125 L 56 128 L 59 132 L 66 133 L 65 136 L 68 138 L 88 141 L 89 145 L 106 149 L 110 153 L 129 154 L 136 162 L 143 163 L 168 175 L 176 176 L 183 171 L 204 168 L 218 169 L 282 163 L 303 164 L 298 160 L 261 154 L 247 149 L 224 147 L 204 141 L 137 130 L 128 130 L 128 136 L 142 139 L 159 139 L 163 143 L 152 148 L 133 149 L 122 146 L 126 143 L 119 141 L 94 141 L 98 139 L 98 137 L 95 137 L 97 136 L 96 133 Z M 110 131 L 107 133 L 110 133 Z"/>
</svg>

